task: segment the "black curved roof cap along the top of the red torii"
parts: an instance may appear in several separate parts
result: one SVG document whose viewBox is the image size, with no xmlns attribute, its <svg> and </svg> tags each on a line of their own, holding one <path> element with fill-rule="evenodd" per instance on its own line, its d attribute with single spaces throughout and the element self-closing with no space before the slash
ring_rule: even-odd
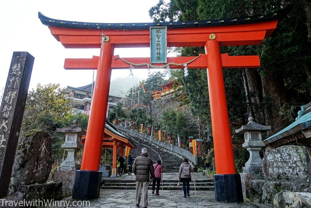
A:
<svg viewBox="0 0 311 208">
<path fill-rule="evenodd" d="M 279 12 L 278 12 L 279 13 Z M 176 22 L 143 22 L 143 23 L 100 23 L 100 22 L 79 22 L 57 20 L 44 16 L 38 12 L 38 16 L 42 24 L 47 26 L 65 27 L 65 28 L 81 28 L 81 29 L 149 29 L 151 26 L 167 26 L 168 28 L 183 27 L 207 27 L 207 26 L 223 26 L 223 25 L 239 25 L 254 22 L 270 21 L 276 19 L 278 13 L 272 15 L 254 15 L 248 17 L 235 17 L 217 20 L 201 20 L 201 21 L 176 21 Z"/>
</svg>

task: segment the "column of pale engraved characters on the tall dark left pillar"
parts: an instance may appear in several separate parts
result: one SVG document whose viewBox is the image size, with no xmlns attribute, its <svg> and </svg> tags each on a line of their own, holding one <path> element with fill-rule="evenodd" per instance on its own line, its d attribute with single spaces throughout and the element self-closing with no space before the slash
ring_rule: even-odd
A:
<svg viewBox="0 0 311 208">
<path fill-rule="evenodd" d="M 8 125 L 9 125 L 9 116 L 12 111 L 12 103 L 14 103 L 15 99 L 17 99 L 17 86 L 20 82 L 20 75 L 21 75 L 21 64 L 14 64 L 12 67 L 12 72 L 9 74 L 9 83 L 8 83 L 8 90 L 3 95 L 3 109 L 0 112 L 0 148 L 4 147 L 4 142 L 7 140 L 5 138 L 8 137 Z"/>
</svg>

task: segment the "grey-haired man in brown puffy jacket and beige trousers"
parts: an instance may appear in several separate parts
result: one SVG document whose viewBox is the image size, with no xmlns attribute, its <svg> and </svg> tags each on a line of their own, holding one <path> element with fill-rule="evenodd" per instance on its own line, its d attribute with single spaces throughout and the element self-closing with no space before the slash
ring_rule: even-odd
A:
<svg viewBox="0 0 311 208">
<path fill-rule="evenodd" d="M 142 154 L 135 158 L 133 163 L 133 173 L 136 175 L 136 206 L 140 203 L 140 190 L 142 189 L 142 201 L 143 207 L 148 206 L 148 187 L 149 187 L 149 174 L 151 175 L 151 180 L 155 178 L 153 163 L 150 158 L 148 158 L 147 148 L 142 148 Z"/>
</svg>

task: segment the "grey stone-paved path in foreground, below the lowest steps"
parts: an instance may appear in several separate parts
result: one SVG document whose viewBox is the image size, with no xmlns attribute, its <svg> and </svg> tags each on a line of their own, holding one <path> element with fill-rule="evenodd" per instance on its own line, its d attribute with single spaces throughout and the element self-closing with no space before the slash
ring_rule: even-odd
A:
<svg viewBox="0 0 311 208">
<path fill-rule="evenodd" d="M 183 198 L 182 191 L 165 191 L 164 196 L 152 195 L 148 192 L 149 208 L 164 207 L 164 208 L 201 208 L 201 207 L 255 207 L 246 203 L 242 204 L 228 204 L 219 203 L 215 201 L 214 191 L 197 191 L 197 198 L 195 198 L 194 191 L 190 191 L 191 196 Z M 100 198 L 91 200 L 91 207 L 93 208 L 134 208 L 135 190 L 112 190 L 106 189 L 100 191 Z M 141 208 L 142 206 L 140 206 Z"/>
</svg>

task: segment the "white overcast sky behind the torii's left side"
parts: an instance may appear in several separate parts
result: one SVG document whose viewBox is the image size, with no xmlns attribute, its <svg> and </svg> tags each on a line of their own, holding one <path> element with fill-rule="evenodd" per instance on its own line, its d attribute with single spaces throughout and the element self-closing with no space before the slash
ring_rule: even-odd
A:
<svg viewBox="0 0 311 208">
<path fill-rule="evenodd" d="M 2 0 L 0 2 L 0 88 L 4 87 L 13 51 L 28 51 L 35 57 L 30 87 L 38 83 L 60 83 L 79 87 L 91 83 L 93 70 L 65 70 L 65 58 L 91 58 L 99 55 L 99 49 L 65 49 L 38 18 L 40 11 L 45 16 L 71 21 L 86 22 L 152 22 L 148 10 L 158 0 L 76 0 L 38 1 Z M 120 57 L 149 57 L 149 48 L 117 48 Z M 147 78 L 147 70 L 136 69 L 133 74 Z M 96 71 L 95 71 L 96 75 Z M 112 71 L 111 80 L 129 75 L 128 69 Z"/>
</svg>

